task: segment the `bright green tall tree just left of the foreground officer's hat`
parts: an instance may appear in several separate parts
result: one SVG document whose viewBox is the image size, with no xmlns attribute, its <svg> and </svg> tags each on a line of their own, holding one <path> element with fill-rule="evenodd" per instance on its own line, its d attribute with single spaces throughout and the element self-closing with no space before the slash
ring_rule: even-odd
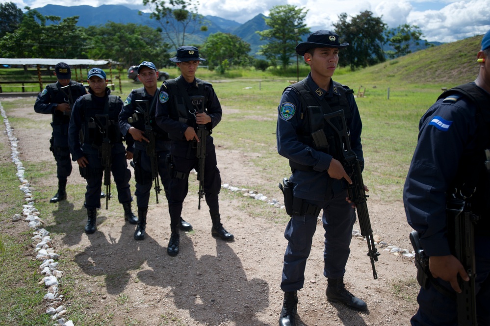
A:
<svg viewBox="0 0 490 326">
<path fill-rule="evenodd" d="M 296 44 L 301 36 L 309 33 L 309 28 L 304 22 L 308 9 L 298 8 L 292 4 L 280 4 L 272 7 L 269 18 L 265 23 L 271 27 L 264 31 L 258 31 L 260 40 L 269 43 L 260 46 L 258 54 L 265 56 L 272 63 L 277 60 L 283 69 L 289 65 L 289 59 L 296 55 Z"/>
</svg>

